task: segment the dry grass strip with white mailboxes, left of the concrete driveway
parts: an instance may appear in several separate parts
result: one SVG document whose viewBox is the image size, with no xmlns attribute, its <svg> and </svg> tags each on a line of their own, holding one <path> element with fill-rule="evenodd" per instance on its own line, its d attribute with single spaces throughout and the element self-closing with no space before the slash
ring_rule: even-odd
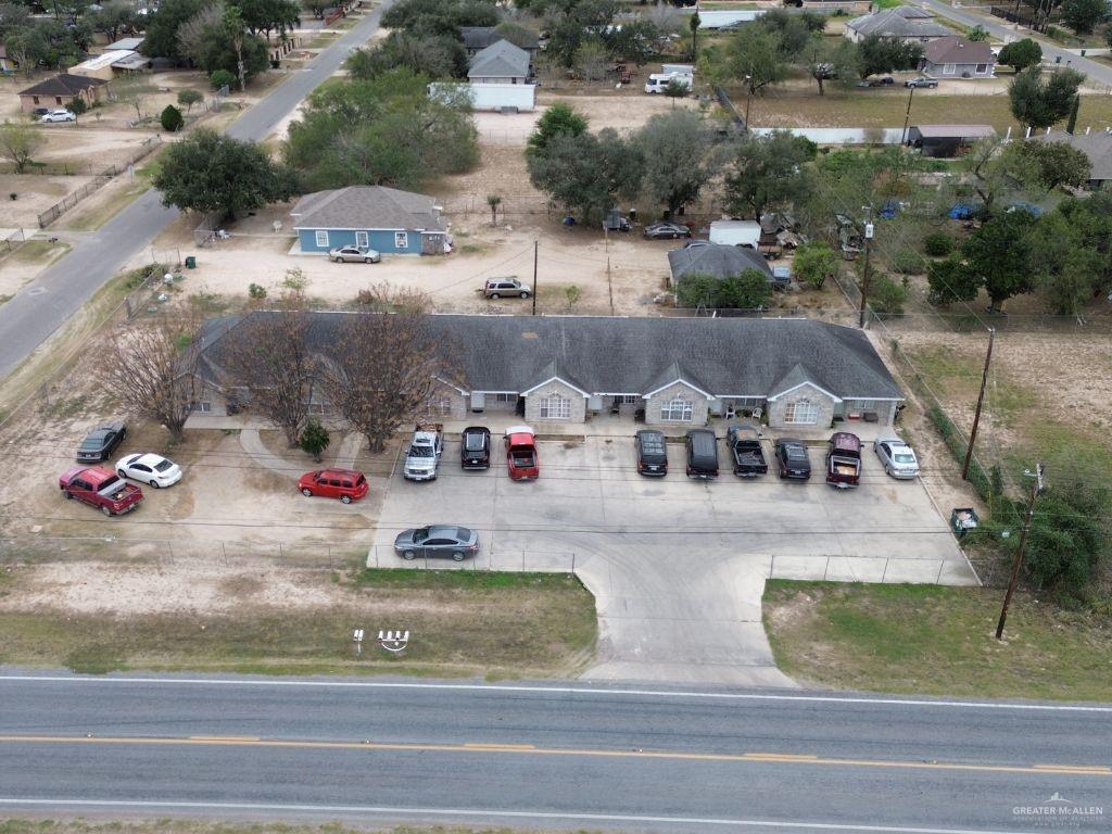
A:
<svg viewBox="0 0 1112 834">
<path fill-rule="evenodd" d="M 161 584 L 166 570 L 97 562 L 4 569 L 0 664 L 87 673 L 566 676 L 589 659 L 595 642 L 594 600 L 564 574 L 198 564 L 171 572 L 182 587 L 207 587 L 206 605 L 177 607 L 169 587 L 158 592 L 169 605 L 138 608 L 113 606 L 123 598 L 118 592 L 102 594 L 95 609 L 59 594 L 75 583 L 117 589 L 131 583 L 138 598 L 145 575 Z M 367 631 L 363 653 L 354 628 Z M 408 629 L 405 652 L 381 649 L 374 641 L 379 628 Z"/>
</svg>

